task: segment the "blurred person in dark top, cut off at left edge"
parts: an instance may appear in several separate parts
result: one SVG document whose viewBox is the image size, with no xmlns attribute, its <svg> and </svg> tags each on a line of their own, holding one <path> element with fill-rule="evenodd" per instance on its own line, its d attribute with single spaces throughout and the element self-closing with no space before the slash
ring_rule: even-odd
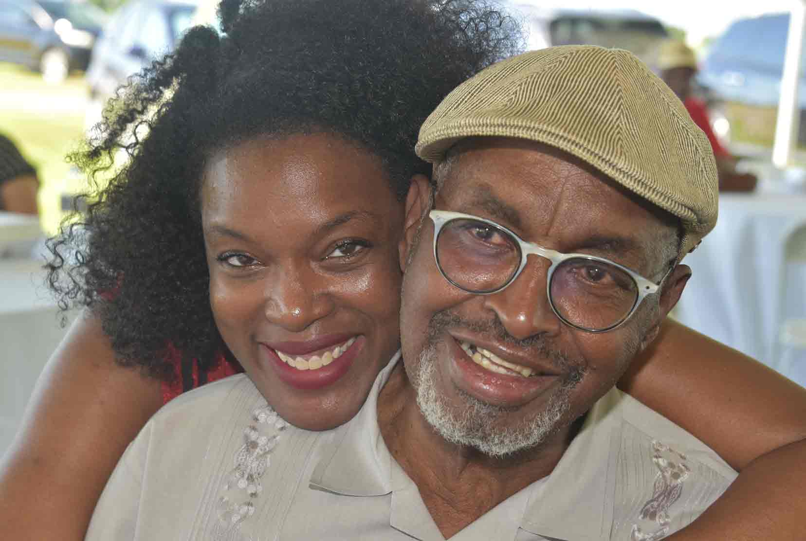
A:
<svg viewBox="0 0 806 541">
<path fill-rule="evenodd" d="M 11 139 L 0 134 L 0 210 L 38 214 L 36 169 Z"/>
</svg>

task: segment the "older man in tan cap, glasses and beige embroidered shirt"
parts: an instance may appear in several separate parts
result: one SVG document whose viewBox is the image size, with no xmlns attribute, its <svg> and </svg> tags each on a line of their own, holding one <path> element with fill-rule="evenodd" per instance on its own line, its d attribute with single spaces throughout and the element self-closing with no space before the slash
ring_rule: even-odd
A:
<svg viewBox="0 0 806 541">
<path fill-rule="evenodd" d="M 438 186 L 407 201 L 403 360 L 359 414 L 314 433 L 243 376 L 190 393 L 88 539 L 638 541 L 725 490 L 727 464 L 613 387 L 716 219 L 708 139 L 671 90 L 627 52 L 531 52 L 456 89 L 418 152 Z"/>
</svg>

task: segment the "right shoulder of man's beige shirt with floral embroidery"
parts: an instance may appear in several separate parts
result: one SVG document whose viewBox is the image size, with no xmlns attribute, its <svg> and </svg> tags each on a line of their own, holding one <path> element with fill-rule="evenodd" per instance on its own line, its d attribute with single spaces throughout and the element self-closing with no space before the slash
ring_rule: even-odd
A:
<svg viewBox="0 0 806 541">
<path fill-rule="evenodd" d="M 662 539 L 699 516 L 735 476 L 692 434 L 612 389 L 588 412 L 542 487 L 552 497 L 539 500 L 528 522 L 561 539 Z"/>
</svg>

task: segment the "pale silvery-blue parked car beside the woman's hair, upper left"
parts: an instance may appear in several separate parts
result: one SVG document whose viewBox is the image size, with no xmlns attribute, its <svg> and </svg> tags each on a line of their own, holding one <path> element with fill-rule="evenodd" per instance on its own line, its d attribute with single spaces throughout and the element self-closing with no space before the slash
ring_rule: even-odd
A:
<svg viewBox="0 0 806 541">
<path fill-rule="evenodd" d="M 128 77 L 171 52 L 196 9 L 188 0 L 133 0 L 118 8 L 93 48 L 86 73 L 91 98 L 106 102 Z"/>
</svg>

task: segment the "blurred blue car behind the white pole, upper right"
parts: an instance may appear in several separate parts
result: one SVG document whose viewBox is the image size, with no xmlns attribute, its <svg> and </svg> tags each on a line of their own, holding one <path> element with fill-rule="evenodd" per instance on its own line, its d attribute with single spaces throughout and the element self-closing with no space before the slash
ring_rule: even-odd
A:
<svg viewBox="0 0 806 541">
<path fill-rule="evenodd" d="M 729 119 L 752 130 L 769 131 L 763 109 L 779 102 L 789 14 L 738 19 L 719 37 L 700 66 L 697 81 L 715 102 L 742 105 L 746 118 Z M 806 143 L 806 54 L 800 61 L 800 143 Z M 758 126 L 759 123 L 767 124 Z M 775 123 L 775 119 L 772 119 Z"/>
</svg>

